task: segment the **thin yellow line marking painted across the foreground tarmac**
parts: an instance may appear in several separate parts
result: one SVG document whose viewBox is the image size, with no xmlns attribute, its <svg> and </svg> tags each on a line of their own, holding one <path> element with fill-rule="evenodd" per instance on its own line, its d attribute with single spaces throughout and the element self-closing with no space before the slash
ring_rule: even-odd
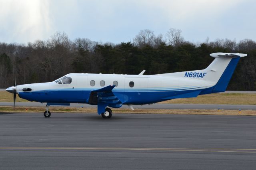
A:
<svg viewBox="0 0 256 170">
<path fill-rule="evenodd" d="M 187 152 L 238 152 L 256 153 L 256 149 L 230 148 L 100 148 L 100 147 L 0 147 L 0 149 L 45 149 L 45 150 L 150 150 L 150 151 L 187 151 Z"/>
</svg>

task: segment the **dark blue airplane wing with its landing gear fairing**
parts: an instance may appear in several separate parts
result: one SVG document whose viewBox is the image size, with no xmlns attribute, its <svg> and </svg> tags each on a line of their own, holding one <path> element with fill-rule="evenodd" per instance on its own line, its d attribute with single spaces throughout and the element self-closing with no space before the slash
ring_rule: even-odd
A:
<svg viewBox="0 0 256 170">
<path fill-rule="evenodd" d="M 101 89 L 92 90 L 88 103 L 91 105 L 98 105 L 98 114 L 105 112 L 107 106 L 110 107 L 121 107 L 122 102 L 114 95 L 112 89 L 115 85 L 109 85 Z"/>
</svg>

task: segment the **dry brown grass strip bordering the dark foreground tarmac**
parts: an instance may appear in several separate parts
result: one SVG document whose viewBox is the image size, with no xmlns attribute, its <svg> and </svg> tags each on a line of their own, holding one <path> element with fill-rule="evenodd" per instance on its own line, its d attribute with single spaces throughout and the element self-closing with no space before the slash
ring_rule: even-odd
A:
<svg viewBox="0 0 256 170">
<path fill-rule="evenodd" d="M 26 111 L 27 109 L 27 111 Z M 52 113 L 97 113 L 96 108 L 77 108 L 77 107 L 50 107 Z M 174 115 L 251 115 L 255 116 L 256 111 L 252 110 L 203 110 L 203 109 L 112 109 L 116 113 L 134 113 L 134 114 L 174 114 Z M 0 106 L 0 113 L 34 113 L 44 112 L 44 107 L 16 107 L 13 111 L 12 107 Z"/>
</svg>

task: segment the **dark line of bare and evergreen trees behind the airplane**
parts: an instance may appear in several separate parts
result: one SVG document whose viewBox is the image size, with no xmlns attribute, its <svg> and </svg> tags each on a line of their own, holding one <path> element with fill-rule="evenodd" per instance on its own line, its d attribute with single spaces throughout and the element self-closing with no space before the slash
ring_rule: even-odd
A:
<svg viewBox="0 0 256 170">
<path fill-rule="evenodd" d="M 0 43 L 0 88 L 53 81 L 68 73 L 145 74 L 206 68 L 214 52 L 247 53 L 238 63 L 228 90 L 256 90 L 256 42 L 218 39 L 185 41 L 181 30 L 163 35 L 141 30 L 132 42 L 99 43 L 87 38 L 71 41 L 63 32 L 28 44 Z"/>
</svg>

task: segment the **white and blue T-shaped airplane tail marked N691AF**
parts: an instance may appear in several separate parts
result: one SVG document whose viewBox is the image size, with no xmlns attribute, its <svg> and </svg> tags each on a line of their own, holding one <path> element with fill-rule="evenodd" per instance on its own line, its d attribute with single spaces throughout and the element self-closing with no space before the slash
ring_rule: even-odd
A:
<svg viewBox="0 0 256 170">
<path fill-rule="evenodd" d="M 188 79 L 198 79 L 207 81 L 209 84 L 212 84 L 213 86 L 209 89 L 209 91 L 202 91 L 202 93 L 204 94 L 225 91 L 240 57 L 245 57 L 247 56 L 247 54 L 212 53 L 210 54 L 210 56 L 215 57 L 215 59 L 206 69 L 158 75 L 184 77 Z"/>
</svg>

